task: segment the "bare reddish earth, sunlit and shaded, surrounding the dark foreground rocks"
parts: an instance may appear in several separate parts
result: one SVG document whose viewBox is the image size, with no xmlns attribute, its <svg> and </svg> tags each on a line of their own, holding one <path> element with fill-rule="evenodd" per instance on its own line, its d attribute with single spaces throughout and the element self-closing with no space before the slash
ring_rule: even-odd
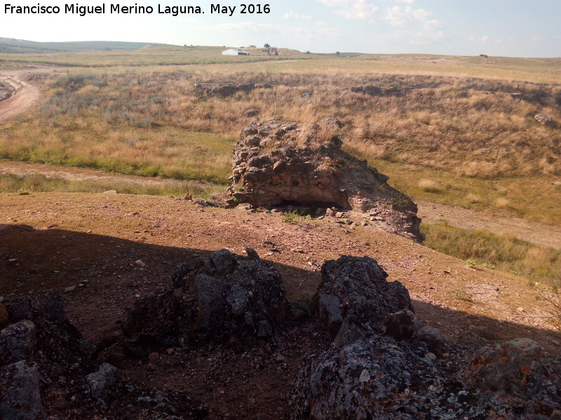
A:
<svg viewBox="0 0 561 420">
<path fill-rule="evenodd" d="M 452 340 L 474 325 L 498 337 L 531 337 L 558 352 L 525 280 L 466 267 L 409 239 L 373 227 L 343 228 L 339 219 L 283 222 L 280 214 L 200 207 L 147 195 L 0 194 L 0 295 L 65 293 L 74 325 L 93 342 L 122 339 L 120 324 L 138 296 L 170 285 L 175 265 L 218 248 L 242 254 L 246 246 L 280 271 L 290 300 L 310 296 L 324 260 L 370 255 L 410 290 L 422 321 Z M 11 261 L 8 261 L 11 260 Z M 146 267 L 136 261 L 142 260 Z M 458 293 L 464 290 L 465 293 Z M 212 419 L 282 419 L 284 395 L 302 355 L 327 339 L 311 321 L 287 321 L 278 346 L 235 354 L 205 347 L 147 362 L 121 361 L 122 374 L 144 384 L 187 391 L 212 409 Z M 285 358 L 276 363 L 278 355 Z M 107 356 L 107 354 L 105 355 Z M 107 356 L 107 357 L 110 357 Z"/>
</svg>

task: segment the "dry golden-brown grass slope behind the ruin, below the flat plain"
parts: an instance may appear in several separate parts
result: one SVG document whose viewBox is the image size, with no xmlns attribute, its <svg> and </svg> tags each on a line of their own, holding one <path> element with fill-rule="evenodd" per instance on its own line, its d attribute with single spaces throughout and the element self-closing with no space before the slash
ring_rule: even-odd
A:
<svg viewBox="0 0 561 420">
<path fill-rule="evenodd" d="M 298 63 L 299 64 L 299 63 Z M 269 83 L 229 97 L 207 83 Z M 0 156 L 225 185 L 231 144 L 251 118 L 335 117 L 351 153 L 412 197 L 558 223 L 561 87 L 440 76 L 88 73 L 40 80 L 39 109 L 0 134 Z M 375 85 L 376 95 L 349 87 Z M 347 89 L 345 89 L 347 88 Z"/>
</svg>

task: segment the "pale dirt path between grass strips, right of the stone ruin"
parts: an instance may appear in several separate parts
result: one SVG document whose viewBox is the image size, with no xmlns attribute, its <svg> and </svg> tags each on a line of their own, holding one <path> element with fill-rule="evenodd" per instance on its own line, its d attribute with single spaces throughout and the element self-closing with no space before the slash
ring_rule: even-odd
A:
<svg viewBox="0 0 561 420">
<path fill-rule="evenodd" d="M 457 228 L 507 233 L 534 244 L 561 248 L 561 228 L 557 226 L 529 222 L 517 217 L 495 216 L 447 204 L 417 202 L 417 206 L 419 217 L 429 223 L 445 220 Z"/>
</svg>

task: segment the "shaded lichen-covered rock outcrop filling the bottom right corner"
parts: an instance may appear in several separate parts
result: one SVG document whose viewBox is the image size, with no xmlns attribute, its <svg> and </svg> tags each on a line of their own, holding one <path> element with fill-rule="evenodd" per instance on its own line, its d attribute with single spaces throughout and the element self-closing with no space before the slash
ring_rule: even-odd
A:
<svg viewBox="0 0 561 420">
<path fill-rule="evenodd" d="M 304 358 L 288 419 L 561 419 L 561 358 L 532 340 L 446 342 L 372 258 L 327 261 L 322 274 L 318 321 L 337 335 Z"/>
</svg>

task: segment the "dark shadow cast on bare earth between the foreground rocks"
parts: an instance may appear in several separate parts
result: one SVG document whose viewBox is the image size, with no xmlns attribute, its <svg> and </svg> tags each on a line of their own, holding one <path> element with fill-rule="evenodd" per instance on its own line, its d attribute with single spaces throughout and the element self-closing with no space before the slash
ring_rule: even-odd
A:
<svg viewBox="0 0 561 420">
<path fill-rule="evenodd" d="M 252 244 L 248 244 L 251 246 Z M 213 250 L 214 251 L 214 250 Z M 34 230 L 25 225 L 0 225 L 0 295 L 43 298 L 49 288 L 64 291 L 72 323 L 91 342 L 119 340 L 126 308 L 140 296 L 171 285 L 177 263 L 194 262 L 211 251 L 157 246 L 115 237 L 60 230 Z M 283 276 L 292 300 L 311 296 L 320 272 L 273 263 Z M 389 279 L 391 281 L 391 278 Z M 546 351 L 560 353 L 561 335 L 527 325 L 443 309 L 414 301 L 419 318 L 438 328 L 452 323 L 456 334 L 481 325 L 500 339 L 530 337 Z M 557 343 L 557 344 L 556 344 Z M 208 346 L 179 359 L 164 355 L 157 366 L 126 360 L 121 374 L 137 383 L 185 391 L 207 404 L 210 419 L 283 419 L 285 395 L 306 353 L 324 351 L 329 337 L 311 319 L 288 319 L 278 331 L 278 346 L 269 357 L 284 361 L 260 365 L 251 356 Z"/>
</svg>

